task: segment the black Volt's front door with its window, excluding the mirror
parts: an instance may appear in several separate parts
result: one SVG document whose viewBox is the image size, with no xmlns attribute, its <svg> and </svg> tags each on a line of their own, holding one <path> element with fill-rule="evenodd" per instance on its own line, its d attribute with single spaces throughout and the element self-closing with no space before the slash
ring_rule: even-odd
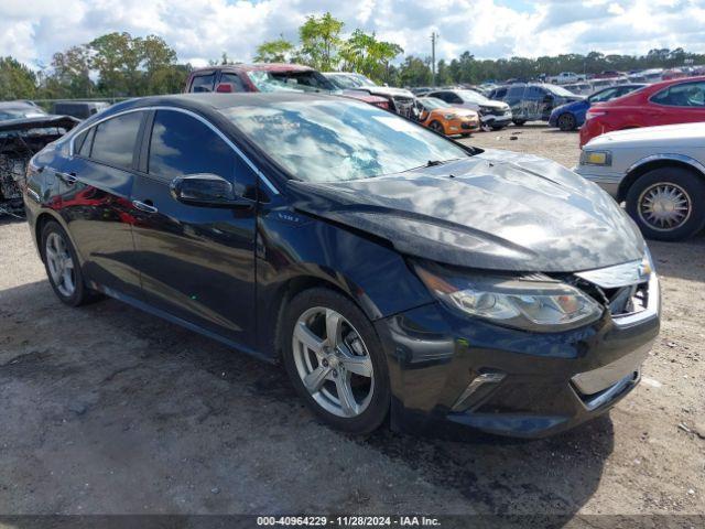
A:
<svg viewBox="0 0 705 529">
<path fill-rule="evenodd" d="M 203 118 L 156 110 L 145 127 L 141 173 L 132 191 L 144 301 L 207 332 L 251 346 L 254 335 L 256 202 L 202 207 L 176 201 L 177 176 L 215 174 L 254 198 L 256 175 Z"/>
</svg>

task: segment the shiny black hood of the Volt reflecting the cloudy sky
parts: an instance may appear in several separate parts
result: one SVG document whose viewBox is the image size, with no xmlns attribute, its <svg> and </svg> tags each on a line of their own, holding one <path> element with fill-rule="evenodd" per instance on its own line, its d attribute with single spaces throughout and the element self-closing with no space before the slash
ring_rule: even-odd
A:
<svg viewBox="0 0 705 529">
<path fill-rule="evenodd" d="M 404 173 L 291 187 L 301 212 L 447 264 L 573 272 L 644 252 L 643 238 L 611 197 L 532 155 L 485 151 Z"/>
</svg>

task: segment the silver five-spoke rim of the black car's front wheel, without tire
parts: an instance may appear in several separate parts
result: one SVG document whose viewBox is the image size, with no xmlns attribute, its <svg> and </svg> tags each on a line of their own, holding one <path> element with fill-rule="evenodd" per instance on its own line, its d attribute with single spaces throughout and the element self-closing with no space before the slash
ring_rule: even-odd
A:
<svg viewBox="0 0 705 529">
<path fill-rule="evenodd" d="M 292 345 L 304 388 L 323 409 L 354 418 L 368 408 L 375 392 L 372 359 L 341 314 L 323 306 L 308 309 L 296 321 Z"/>
</svg>

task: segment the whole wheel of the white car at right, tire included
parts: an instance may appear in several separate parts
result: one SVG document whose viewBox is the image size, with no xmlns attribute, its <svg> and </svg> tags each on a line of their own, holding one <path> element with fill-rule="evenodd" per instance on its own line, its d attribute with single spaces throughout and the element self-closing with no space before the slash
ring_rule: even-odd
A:
<svg viewBox="0 0 705 529">
<path fill-rule="evenodd" d="M 705 225 L 705 182 L 684 168 L 654 169 L 629 188 L 627 212 L 649 239 L 686 239 Z"/>
</svg>

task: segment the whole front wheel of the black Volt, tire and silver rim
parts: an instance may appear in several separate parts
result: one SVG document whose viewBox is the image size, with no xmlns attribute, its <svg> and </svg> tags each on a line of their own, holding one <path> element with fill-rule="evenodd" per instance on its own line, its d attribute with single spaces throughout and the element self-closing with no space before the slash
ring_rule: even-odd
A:
<svg viewBox="0 0 705 529">
<path fill-rule="evenodd" d="M 299 396 L 327 424 L 365 435 L 387 418 L 390 385 L 375 327 L 355 303 L 316 288 L 288 304 L 283 363 Z"/>
</svg>

